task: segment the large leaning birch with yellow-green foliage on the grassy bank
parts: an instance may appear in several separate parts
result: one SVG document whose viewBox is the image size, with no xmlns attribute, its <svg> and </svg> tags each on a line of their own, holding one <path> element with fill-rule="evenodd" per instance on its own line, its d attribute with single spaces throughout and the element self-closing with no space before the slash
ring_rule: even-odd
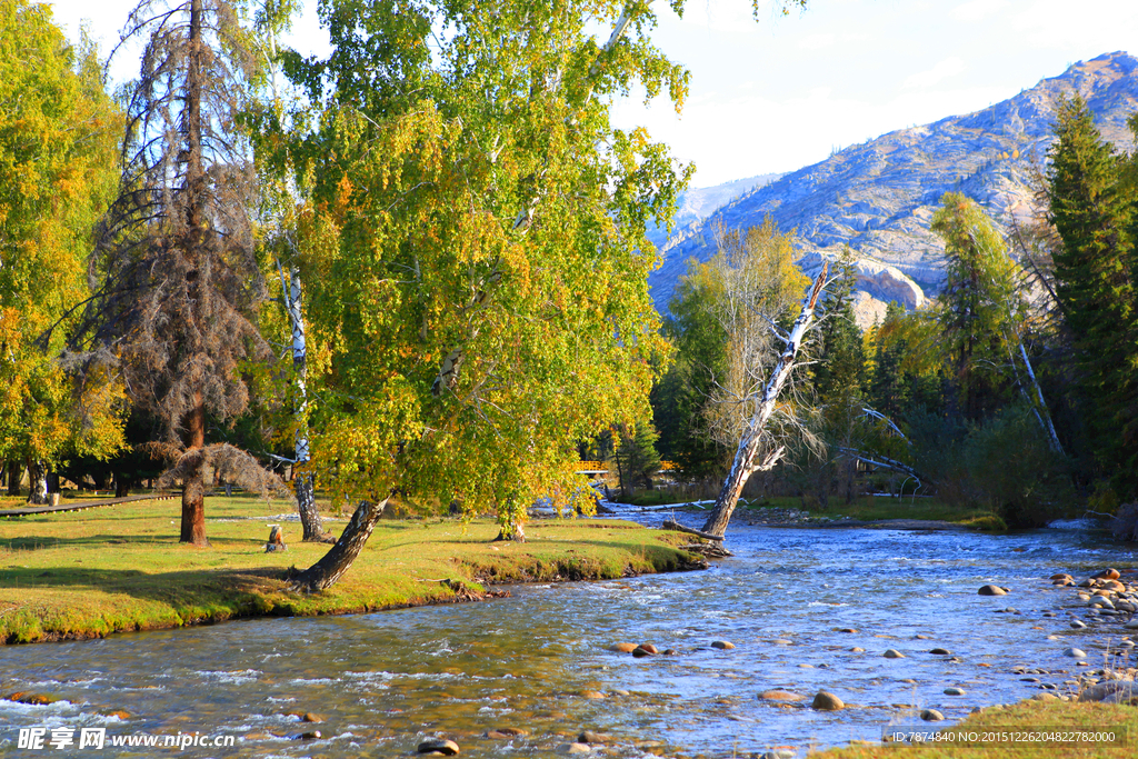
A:
<svg viewBox="0 0 1138 759">
<path fill-rule="evenodd" d="M 682 178 L 608 112 L 637 82 L 686 88 L 643 5 L 346 1 L 321 16 L 330 57 L 286 59 L 314 121 L 284 147 L 312 187 L 302 274 L 329 352 L 319 377 L 310 365 L 311 469 L 360 505 L 296 578 L 311 589 L 347 570 L 393 494 L 492 504 L 511 537 L 536 497 L 580 492 L 578 440 L 646 416 L 663 346 L 644 228 Z"/>
</svg>

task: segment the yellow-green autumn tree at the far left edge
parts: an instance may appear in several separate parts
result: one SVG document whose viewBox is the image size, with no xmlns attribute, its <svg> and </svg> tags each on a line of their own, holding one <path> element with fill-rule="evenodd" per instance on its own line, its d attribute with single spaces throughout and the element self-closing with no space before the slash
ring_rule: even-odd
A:
<svg viewBox="0 0 1138 759">
<path fill-rule="evenodd" d="M 73 394 L 52 329 L 89 296 L 119 124 L 94 49 L 69 46 L 47 6 L 0 2 L 0 460 L 26 464 L 33 503 L 49 467 L 123 445 L 121 386 L 99 373 Z"/>
</svg>

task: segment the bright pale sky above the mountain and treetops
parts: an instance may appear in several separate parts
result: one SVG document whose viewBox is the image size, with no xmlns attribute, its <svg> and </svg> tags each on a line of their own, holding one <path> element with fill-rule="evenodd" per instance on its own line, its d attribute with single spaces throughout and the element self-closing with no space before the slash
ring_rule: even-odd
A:
<svg viewBox="0 0 1138 759">
<path fill-rule="evenodd" d="M 683 18 L 654 0 L 657 46 L 692 76 L 681 115 L 665 98 L 618 102 L 613 121 L 644 126 L 694 163 L 693 187 L 786 172 L 887 132 L 1005 100 L 1104 52 L 1138 55 L 1138 0 L 809 0 L 775 13 L 760 0 L 688 0 Z M 72 39 L 90 22 L 104 51 L 134 0 L 59 0 Z M 292 47 L 327 50 L 316 0 Z M 137 57 L 137 53 L 135 53 Z M 137 59 L 119 57 L 115 79 Z"/>
</svg>

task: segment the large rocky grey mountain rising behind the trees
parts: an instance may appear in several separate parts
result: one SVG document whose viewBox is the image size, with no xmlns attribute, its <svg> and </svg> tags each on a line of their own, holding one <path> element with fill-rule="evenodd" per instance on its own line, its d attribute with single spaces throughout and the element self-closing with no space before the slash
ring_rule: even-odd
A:
<svg viewBox="0 0 1138 759">
<path fill-rule="evenodd" d="M 1074 64 L 983 110 L 850 146 L 720 206 L 662 246 L 663 263 L 649 278 L 657 307 L 666 311 L 688 258 L 715 253 L 711 224 L 748 228 L 768 214 L 780 229 L 797 230 L 807 272 L 847 245 L 855 251 L 863 325 L 882 315 L 888 300 L 922 305 L 945 279 L 945 248 L 929 230 L 941 196 L 967 195 L 1005 230 L 1013 216 L 1026 215 L 1032 176 L 1054 140 L 1056 102 L 1073 93 L 1087 100 L 1104 138 L 1133 148 L 1127 117 L 1138 112 L 1138 59 L 1113 52 Z"/>
</svg>

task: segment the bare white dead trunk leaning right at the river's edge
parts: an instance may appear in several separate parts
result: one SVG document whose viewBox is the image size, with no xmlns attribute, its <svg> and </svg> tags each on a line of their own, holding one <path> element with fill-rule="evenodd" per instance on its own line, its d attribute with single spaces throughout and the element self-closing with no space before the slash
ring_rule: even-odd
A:
<svg viewBox="0 0 1138 759">
<path fill-rule="evenodd" d="M 778 446 L 769 451 L 761 463 L 754 463 L 756 456 L 758 456 L 762 447 L 762 428 L 766 427 L 767 420 L 770 419 L 770 415 L 775 411 L 775 406 L 778 403 L 778 394 L 794 369 L 794 358 L 798 356 L 798 349 L 801 347 L 802 339 L 810 329 L 810 324 L 814 323 L 814 307 L 818 303 L 822 288 L 826 284 L 826 269 L 827 266 L 824 263 L 822 272 L 814 280 L 814 287 L 810 288 L 810 297 L 802 304 L 802 311 L 799 313 L 798 319 L 794 320 L 794 327 L 791 328 L 790 335 L 785 338 L 786 347 L 770 371 L 770 378 L 762 388 L 762 397 L 747 422 L 747 428 L 743 430 L 742 438 L 739 442 L 739 448 L 735 449 L 735 461 L 732 463 L 727 479 L 724 480 L 723 488 L 719 490 L 719 497 L 716 498 L 715 508 L 703 525 L 703 533 L 724 535 L 727 531 L 731 515 L 735 511 L 735 505 L 739 503 L 739 495 L 743 492 L 747 480 L 757 471 L 772 469 L 786 452 L 785 447 Z"/>
</svg>

